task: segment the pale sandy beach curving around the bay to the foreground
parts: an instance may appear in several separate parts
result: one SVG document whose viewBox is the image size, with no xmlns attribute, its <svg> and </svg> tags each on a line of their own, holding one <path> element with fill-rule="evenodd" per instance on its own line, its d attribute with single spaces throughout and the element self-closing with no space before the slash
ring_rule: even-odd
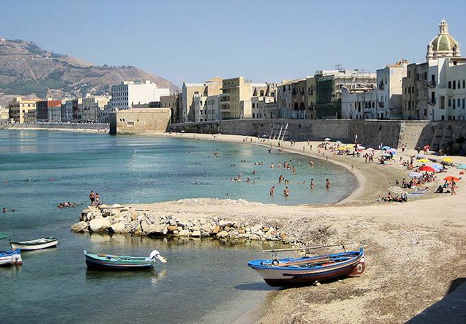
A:
<svg viewBox="0 0 466 324">
<path fill-rule="evenodd" d="M 193 135 L 183 133 L 164 136 L 232 141 L 243 143 L 236 135 Z M 253 142 L 245 145 L 276 147 L 277 141 Z M 399 163 L 377 165 L 364 158 L 332 156 L 329 151 L 317 153 L 318 142 L 288 141 L 282 146 L 289 152 L 306 154 L 310 159 L 326 159 L 338 163 L 358 178 L 358 188 L 335 205 L 280 206 L 250 203 L 246 206 L 225 202 L 221 208 L 209 199 L 191 203 L 158 203 L 151 207 L 181 214 L 244 218 L 275 224 L 293 233 L 309 245 L 355 242 L 364 246 L 367 268 L 360 277 L 324 283 L 321 286 L 289 288 L 271 294 L 258 323 L 404 323 L 432 303 L 439 301 L 465 278 L 466 192 L 458 183 L 458 194 L 434 194 L 439 183 L 428 183 L 424 196 L 409 197 L 407 203 L 376 202 L 386 196 L 387 187 L 395 180 L 409 178 L 409 171 Z M 304 152 L 303 152 L 304 146 Z M 396 154 L 404 159 L 417 152 Z M 376 152 L 376 156 L 377 156 Z M 439 159 L 426 154 L 428 159 Z M 465 157 L 452 157 L 465 163 Z M 352 170 L 352 166 L 353 169 Z M 459 175 L 451 168 L 446 175 Z M 253 200 L 253 199 L 252 199 Z M 316 251 L 326 253 L 326 251 Z M 339 251 L 338 248 L 330 251 Z M 264 255 L 265 257 L 268 255 Z M 246 262 L 247 260 L 245 260 Z"/>
</svg>

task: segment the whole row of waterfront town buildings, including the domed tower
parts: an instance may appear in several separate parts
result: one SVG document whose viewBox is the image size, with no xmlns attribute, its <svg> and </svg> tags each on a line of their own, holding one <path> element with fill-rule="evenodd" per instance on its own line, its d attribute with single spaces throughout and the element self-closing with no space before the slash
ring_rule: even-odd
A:
<svg viewBox="0 0 466 324">
<path fill-rule="evenodd" d="M 254 83 L 243 76 L 184 82 L 180 93 L 151 81 L 125 81 L 110 95 L 32 100 L 0 107 L 0 123 L 109 123 L 128 109 L 169 110 L 171 123 L 228 119 L 466 119 L 466 58 L 441 21 L 427 45 L 426 62 L 401 58 L 374 72 L 315 71 L 295 80 Z"/>
</svg>

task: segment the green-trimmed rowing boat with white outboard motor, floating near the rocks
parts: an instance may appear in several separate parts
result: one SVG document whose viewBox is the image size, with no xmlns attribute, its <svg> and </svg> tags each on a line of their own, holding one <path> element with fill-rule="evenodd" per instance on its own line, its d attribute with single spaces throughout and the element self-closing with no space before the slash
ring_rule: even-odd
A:
<svg viewBox="0 0 466 324">
<path fill-rule="evenodd" d="M 84 251 L 88 268 L 105 270 L 139 270 L 148 269 L 156 260 L 165 263 L 167 259 L 162 257 L 157 250 L 151 252 L 149 257 L 131 257 L 128 255 L 91 254 Z"/>
</svg>

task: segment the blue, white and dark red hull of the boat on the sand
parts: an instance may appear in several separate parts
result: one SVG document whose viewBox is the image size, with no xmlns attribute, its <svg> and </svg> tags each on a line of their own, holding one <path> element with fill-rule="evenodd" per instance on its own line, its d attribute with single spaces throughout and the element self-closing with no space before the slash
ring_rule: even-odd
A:
<svg viewBox="0 0 466 324">
<path fill-rule="evenodd" d="M 365 270 L 363 252 L 345 262 L 320 267 L 299 268 L 296 266 L 263 266 L 257 261 L 261 260 L 249 262 L 248 266 L 256 270 L 262 279 L 264 279 L 269 286 L 273 287 L 306 286 L 314 283 L 315 281 L 326 281 L 360 275 Z"/>
</svg>

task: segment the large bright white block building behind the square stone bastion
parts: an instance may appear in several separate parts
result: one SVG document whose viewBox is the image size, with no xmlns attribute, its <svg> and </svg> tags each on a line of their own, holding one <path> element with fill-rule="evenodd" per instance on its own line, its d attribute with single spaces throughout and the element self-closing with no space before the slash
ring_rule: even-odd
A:
<svg viewBox="0 0 466 324">
<path fill-rule="evenodd" d="M 149 80 L 124 81 L 111 87 L 112 111 L 130 109 L 134 104 L 160 102 L 161 95 L 169 94 L 169 89 L 158 88 L 155 82 Z"/>
</svg>

